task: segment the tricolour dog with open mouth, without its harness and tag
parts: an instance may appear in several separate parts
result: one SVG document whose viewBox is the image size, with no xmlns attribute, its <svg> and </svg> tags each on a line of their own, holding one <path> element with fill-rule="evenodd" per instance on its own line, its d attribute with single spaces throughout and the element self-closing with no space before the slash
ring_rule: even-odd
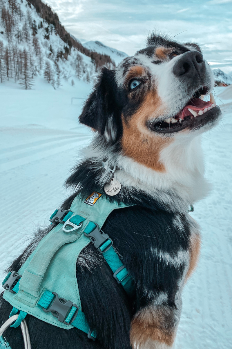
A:
<svg viewBox="0 0 232 349">
<path fill-rule="evenodd" d="M 209 190 L 199 135 L 221 118 L 213 95 L 203 100 L 213 86 L 213 73 L 197 44 L 158 34 L 115 69 L 102 69 L 79 117 L 95 134 L 66 181 L 74 194 L 62 208 L 69 209 L 77 193 L 85 200 L 95 191 L 131 205 L 113 211 L 102 230 L 112 238 L 136 292 L 128 297 L 102 255 L 88 245 L 76 274 L 82 309 L 98 339 L 27 315 L 33 349 L 174 347 L 183 287 L 201 245 L 189 209 Z M 109 173 L 102 161 L 115 166 L 121 183 L 114 196 L 104 192 Z M 38 231 L 8 271 L 19 270 L 53 227 Z M 1 299 L 1 324 L 11 308 Z M 8 328 L 5 337 L 12 349 L 23 349 L 19 328 Z"/>
</svg>

